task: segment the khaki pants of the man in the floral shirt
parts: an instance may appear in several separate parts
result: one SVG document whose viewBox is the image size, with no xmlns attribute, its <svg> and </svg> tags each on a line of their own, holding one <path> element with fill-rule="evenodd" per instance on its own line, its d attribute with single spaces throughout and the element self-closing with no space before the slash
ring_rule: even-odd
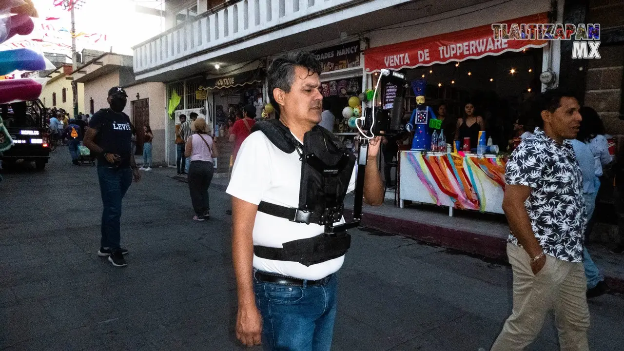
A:
<svg viewBox="0 0 624 351">
<path fill-rule="evenodd" d="M 514 309 L 492 351 L 524 350 L 542 330 L 551 309 L 555 310 L 561 350 L 589 350 L 583 262 L 572 263 L 546 255 L 544 268 L 535 275 L 529 254 L 522 247 L 507 244 L 507 255 L 514 271 Z"/>
</svg>

